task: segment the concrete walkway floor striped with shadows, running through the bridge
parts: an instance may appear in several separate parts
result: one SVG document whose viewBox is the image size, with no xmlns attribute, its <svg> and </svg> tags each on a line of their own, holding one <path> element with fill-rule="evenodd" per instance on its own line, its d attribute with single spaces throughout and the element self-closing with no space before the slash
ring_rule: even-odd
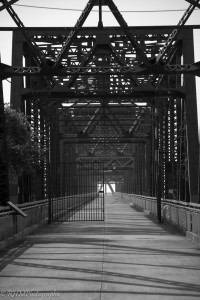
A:
<svg viewBox="0 0 200 300">
<path fill-rule="evenodd" d="M 107 196 L 105 222 L 46 226 L 4 252 L 0 298 L 200 299 L 200 249 Z"/>
</svg>

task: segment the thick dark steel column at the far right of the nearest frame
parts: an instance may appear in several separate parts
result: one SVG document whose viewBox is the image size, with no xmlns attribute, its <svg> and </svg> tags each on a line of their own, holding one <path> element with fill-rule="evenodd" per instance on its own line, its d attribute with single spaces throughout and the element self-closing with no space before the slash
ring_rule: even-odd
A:
<svg viewBox="0 0 200 300">
<path fill-rule="evenodd" d="M 183 30 L 183 59 L 184 64 L 194 63 L 193 30 Z M 199 202 L 199 141 L 198 141 L 198 118 L 196 84 L 193 75 L 184 76 L 185 84 L 185 107 L 188 142 L 188 168 L 190 201 Z"/>
</svg>

